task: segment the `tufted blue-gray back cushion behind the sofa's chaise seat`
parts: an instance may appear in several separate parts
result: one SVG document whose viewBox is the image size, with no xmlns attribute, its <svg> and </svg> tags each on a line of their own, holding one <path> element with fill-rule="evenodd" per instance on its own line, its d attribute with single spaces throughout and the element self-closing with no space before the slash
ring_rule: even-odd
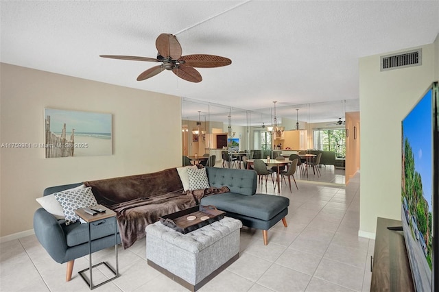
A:
<svg viewBox="0 0 439 292">
<path fill-rule="evenodd" d="M 206 171 L 211 187 L 227 186 L 231 193 L 241 195 L 256 193 L 257 173 L 254 170 L 206 167 Z"/>
</svg>

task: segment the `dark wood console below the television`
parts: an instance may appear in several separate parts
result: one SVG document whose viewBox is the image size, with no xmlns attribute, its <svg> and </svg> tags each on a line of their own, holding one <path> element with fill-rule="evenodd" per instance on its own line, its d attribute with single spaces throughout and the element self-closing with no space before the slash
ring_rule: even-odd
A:
<svg viewBox="0 0 439 292">
<path fill-rule="evenodd" d="M 401 221 L 378 218 L 370 291 L 415 291 Z"/>
</svg>

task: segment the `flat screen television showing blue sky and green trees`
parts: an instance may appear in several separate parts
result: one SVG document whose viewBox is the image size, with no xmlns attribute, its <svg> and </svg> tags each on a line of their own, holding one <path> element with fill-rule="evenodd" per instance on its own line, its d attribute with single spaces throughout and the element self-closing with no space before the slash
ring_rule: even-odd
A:
<svg viewBox="0 0 439 292">
<path fill-rule="evenodd" d="M 416 291 L 439 291 L 438 82 L 402 121 L 401 221 Z"/>
</svg>

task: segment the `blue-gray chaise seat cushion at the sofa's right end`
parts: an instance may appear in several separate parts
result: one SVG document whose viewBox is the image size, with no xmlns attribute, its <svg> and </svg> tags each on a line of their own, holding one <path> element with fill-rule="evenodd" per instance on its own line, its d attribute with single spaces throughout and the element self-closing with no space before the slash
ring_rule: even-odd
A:
<svg viewBox="0 0 439 292">
<path fill-rule="evenodd" d="M 200 204 L 213 205 L 225 212 L 270 220 L 289 206 L 289 199 L 278 195 L 255 194 L 248 197 L 236 193 L 224 193 L 203 197 Z"/>
</svg>

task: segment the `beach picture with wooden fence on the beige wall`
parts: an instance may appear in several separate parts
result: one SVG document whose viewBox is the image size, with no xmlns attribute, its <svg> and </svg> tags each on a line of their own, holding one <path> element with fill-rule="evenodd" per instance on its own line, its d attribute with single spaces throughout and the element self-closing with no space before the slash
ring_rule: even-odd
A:
<svg viewBox="0 0 439 292">
<path fill-rule="evenodd" d="M 112 155 L 112 114 L 45 108 L 46 158 Z"/>
</svg>

